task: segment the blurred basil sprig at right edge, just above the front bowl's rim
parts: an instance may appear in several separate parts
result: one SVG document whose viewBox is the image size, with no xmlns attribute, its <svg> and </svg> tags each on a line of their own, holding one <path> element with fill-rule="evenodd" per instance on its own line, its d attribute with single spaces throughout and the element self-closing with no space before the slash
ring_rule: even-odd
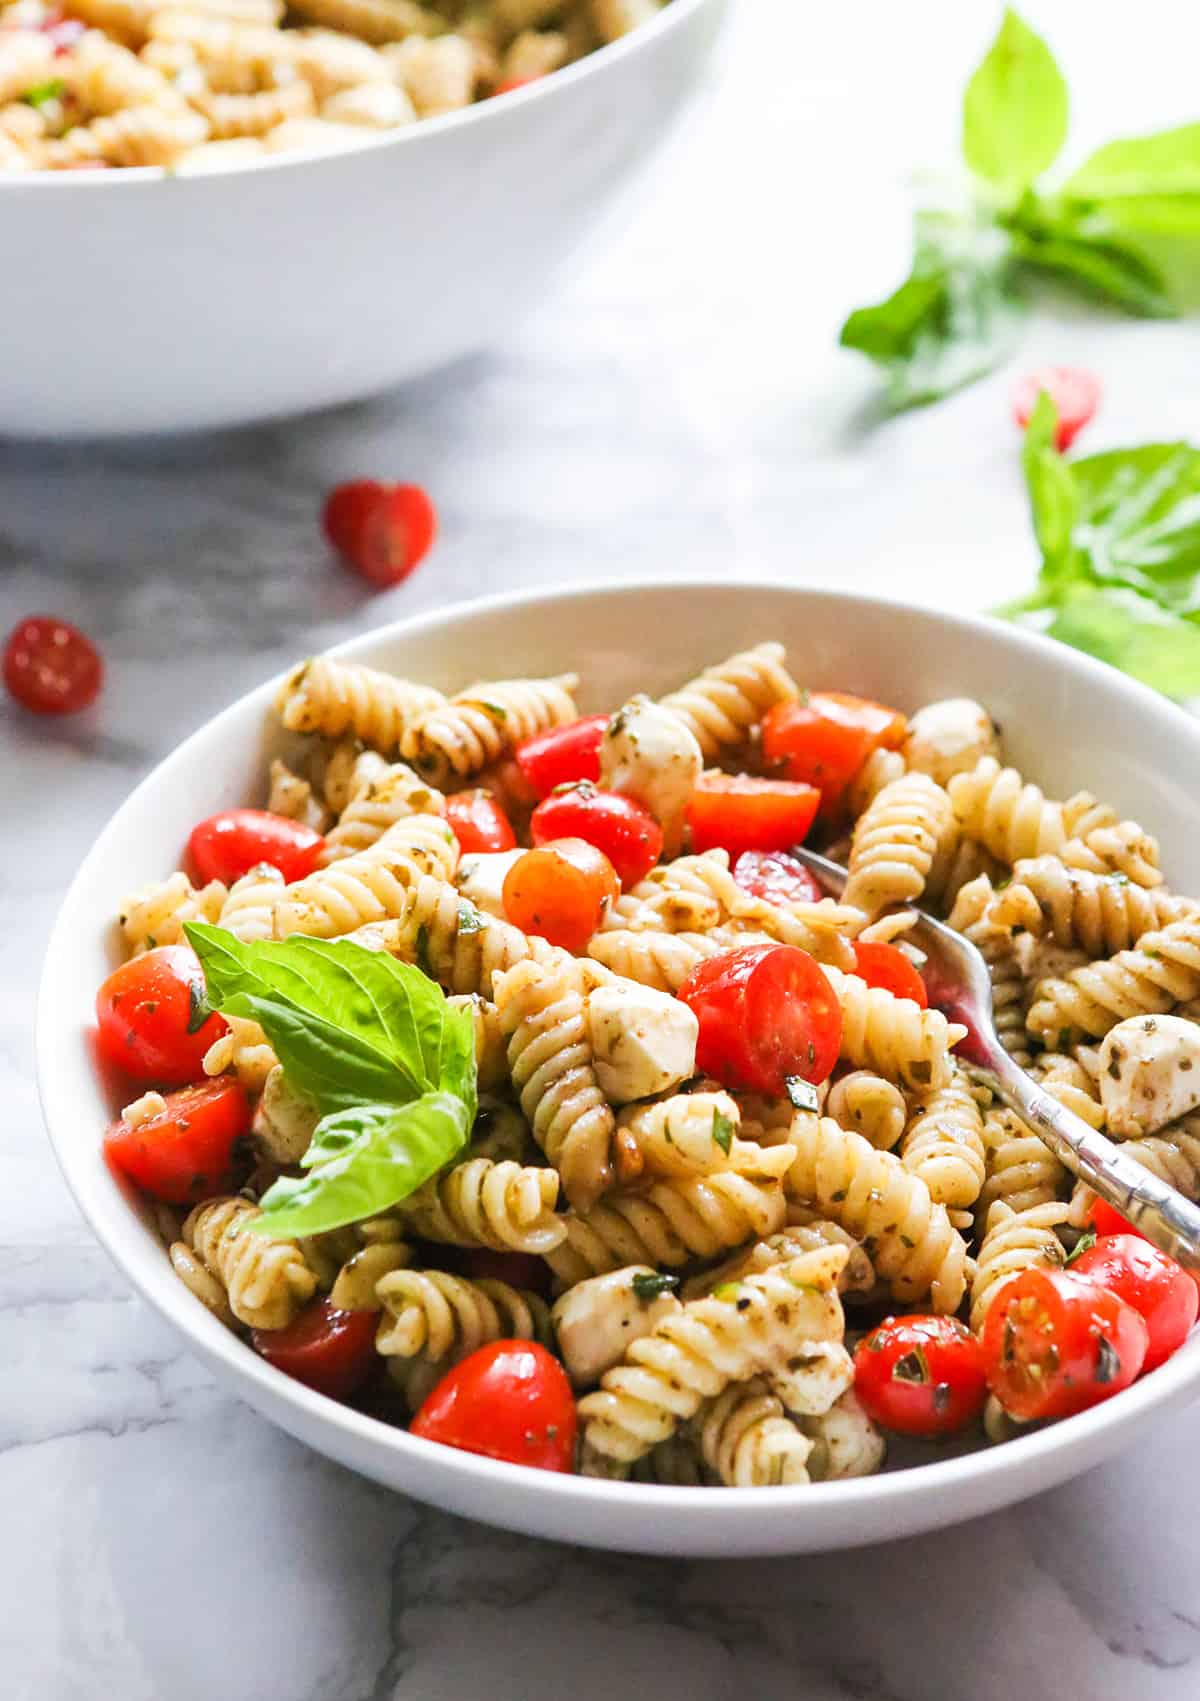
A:
<svg viewBox="0 0 1200 1701">
<path fill-rule="evenodd" d="M 1200 449 L 1151 442 L 1067 461 L 1055 429 L 1043 393 L 1021 456 L 1042 570 L 997 612 L 1168 697 L 1200 696 Z"/>
</svg>

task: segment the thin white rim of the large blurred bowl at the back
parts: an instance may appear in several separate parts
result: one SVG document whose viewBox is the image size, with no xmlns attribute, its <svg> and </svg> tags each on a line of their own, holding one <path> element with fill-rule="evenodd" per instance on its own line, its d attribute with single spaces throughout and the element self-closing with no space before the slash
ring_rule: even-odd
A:
<svg viewBox="0 0 1200 1701">
<path fill-rule="evenodd" d="M 471 105 L 460 107 L 456 112 L 422 117 L 415 124 L 405 124 L 400 129 L 373 133 L 364 128 L 363 139 L 356 141 L 354 146 L 330 148 L 323 153 L 298 150 L 296 153 L 264 155 L 223 172 L 172 172 L 162 165 L 126 165 L 112 172 L 5 172 L 0 174 L 0 194 L 34 196 L 41 191 L 49 191 L 51 194 L 70 194 L 71 191 L 82 194 L 129 194 L 150 184 L 172 182 L 192 185 L 211 184 L 213 179 L 221 180 L 225 177 L 243 177 L 259 172 L 274 174 L 311 167 L 332 168 L 339 160 L 359 158 L 363 153 L 414 148 L 422 141 L 444 136 L 446 131 L 465 129 L 468 124 L 482 124 L 489 117 L 511 112 L 517 104 L 528 105 L 533 100 L 553 97 L 555 90 L 570 88 L 587 77 L 596 77 L 606 66 L 616 65 L 637 53 L 643 43 L 681 27 L 684 17 L 711 3 L 713 0 L 669 0 L 669 5 L 664 5 L 647 24 L 638 24 L 637 29 L 618 36 L 616 41 L 606 41 L 603 46 L 586 53 L 582 60 L 563 65 L 562 70 L 551 71 L 548 77 L 533 78 L 523 88 L 512 88 L 504 95 L 490 95 L 487 100 L 473 100 Z"/>
</svg>

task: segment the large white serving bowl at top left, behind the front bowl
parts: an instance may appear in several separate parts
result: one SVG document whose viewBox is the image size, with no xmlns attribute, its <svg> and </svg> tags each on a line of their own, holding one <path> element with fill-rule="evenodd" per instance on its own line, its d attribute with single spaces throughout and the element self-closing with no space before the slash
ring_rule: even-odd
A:
<svg viewBox="0 0 1200 1701">
<path fill-rule="evenodd" d="M 669 131 L 727 0 L 349 153 L 0 177 L 0 435 L 240 425 L 497 342 Z"/>
</svg>

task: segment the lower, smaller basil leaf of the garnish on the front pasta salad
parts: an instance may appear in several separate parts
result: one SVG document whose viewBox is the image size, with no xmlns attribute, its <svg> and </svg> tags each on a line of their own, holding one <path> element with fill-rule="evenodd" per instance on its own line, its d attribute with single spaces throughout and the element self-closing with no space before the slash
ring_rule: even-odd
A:
<svg viewBox="0 0 1200 1701">
<path fill-rule="evenodd" d="M 407 1199 L 461 1152 L 473 1111 L 449 1092 L 410 1104 L 361 1104 L 323 1118 L 303 1177 L 281 1175 L 254 1228 L 272 1238 L 318 1235 Z"/>
</svg>

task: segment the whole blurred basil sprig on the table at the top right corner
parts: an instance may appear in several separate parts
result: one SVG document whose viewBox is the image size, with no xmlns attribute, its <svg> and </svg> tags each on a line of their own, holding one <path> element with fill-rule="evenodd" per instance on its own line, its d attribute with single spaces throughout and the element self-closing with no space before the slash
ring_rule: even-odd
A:
<svg viewBox="0 0 1200 1701">
<path fill-rule="evenodd" d="M 963 97 L 965 194 L 917 211 L 909 277 L 841 328 L 892 408 L 997 366 L 1038 281 L 1142 318 L 1200 306 L 1200 124 L 1108 143 L 1047 185 L 1067 116 L 1054 54 L 1008 10 Z"/>
</svg>

